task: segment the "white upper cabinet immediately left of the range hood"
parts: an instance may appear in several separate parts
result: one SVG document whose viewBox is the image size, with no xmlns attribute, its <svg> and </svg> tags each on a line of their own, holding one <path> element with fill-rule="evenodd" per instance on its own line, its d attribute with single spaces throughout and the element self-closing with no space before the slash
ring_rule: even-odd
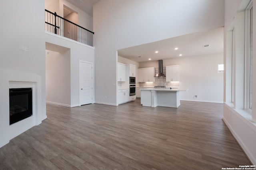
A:
<svg viewBox="0 0 256 170">
<path fill-rule="evenodd" d="M 138 68 L 138 82 L 154 82 L 154 67 Z"/>
</svg>

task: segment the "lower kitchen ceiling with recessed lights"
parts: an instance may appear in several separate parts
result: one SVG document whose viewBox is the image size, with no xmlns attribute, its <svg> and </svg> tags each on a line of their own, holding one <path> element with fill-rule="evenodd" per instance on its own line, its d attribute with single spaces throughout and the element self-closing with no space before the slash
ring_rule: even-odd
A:
<svg viewBox="0 0 256 170">
<path fill-rule="evenodd" d="M 118 55 L 132 61 L 146 62 L 160 59 L 180 57 L 193 57 L 224 51 L 223 27 L 209 31 L 191 33 L 170 39 L 164 39 L 153 43 L 138 45 L 118 50 Z M 209 45 L 209 47 L 203 47 Z M 178 50 L 174 48 L 178 47 Z M 158 53 L 155 53 L 158 51 Z M 140 56 L 140 57 L 139 57 Z"/>
</svg>

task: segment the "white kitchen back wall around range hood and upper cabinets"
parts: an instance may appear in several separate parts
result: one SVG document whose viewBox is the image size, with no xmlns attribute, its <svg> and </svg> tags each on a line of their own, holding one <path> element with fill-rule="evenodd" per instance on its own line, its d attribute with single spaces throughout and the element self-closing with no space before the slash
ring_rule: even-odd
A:
<svg viewBox="0 0 256 170">
<path fill-rule="evenodd" d="M 163 66 L 180 66 L 179 88 L 189 89 L 180 93 L 180 99 L 197 102 L 223 103 L 223 73 L 218 73 L 218 64 L 223 64 L 223 53 L 163 60 Z M 140 63 L 140 68 L 146 67 L 158 67 L 158 61 Z"/>
</svg>

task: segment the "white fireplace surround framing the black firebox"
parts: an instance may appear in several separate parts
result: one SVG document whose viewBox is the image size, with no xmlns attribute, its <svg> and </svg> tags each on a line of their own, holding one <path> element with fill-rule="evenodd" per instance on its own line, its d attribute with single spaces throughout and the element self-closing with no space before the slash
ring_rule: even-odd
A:
<svg viewBox="0 0 256 170">
<path fill-rule="evenodd" d="M 9 143 L 11 139 L 42 123 L 42 87 L 41 76 L 28 72 L 9 70 L 0 75 L 0 147 Z M 9 89 L 32 88 L 33 115 L 9 125 Z"/>
</svg>

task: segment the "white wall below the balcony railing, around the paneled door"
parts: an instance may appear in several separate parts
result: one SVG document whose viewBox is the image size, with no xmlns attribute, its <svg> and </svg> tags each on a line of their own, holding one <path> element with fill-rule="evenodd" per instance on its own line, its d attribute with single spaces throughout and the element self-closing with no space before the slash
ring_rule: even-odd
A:
<svg viewBox="0 0 256 170">
<path fill-rule="evenodd" d="M 45 37 L 47 43 L 70 49 L 70 106 L 79 106 L 79 60 L 94 63 L 94 47 L 79 43 L 65 37 L 60 37 L 59 35 L 55 35 L 53 33 L 46 33 Z"/>
</svg>

